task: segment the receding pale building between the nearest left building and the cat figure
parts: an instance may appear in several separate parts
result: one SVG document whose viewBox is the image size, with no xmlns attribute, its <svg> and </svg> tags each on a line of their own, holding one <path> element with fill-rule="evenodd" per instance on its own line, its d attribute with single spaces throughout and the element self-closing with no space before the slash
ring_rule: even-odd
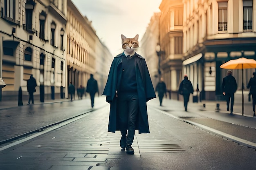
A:
<svg viewBox="0 0 256 170">
<path fill-rule="evenodd" d="M 99 94 L 105 87 L 105 68 L 112 58 L 107 47 L 99 40 L 92 22 L 83 16 L 71 0 L 67 0 L 67 83 L 75 88 L 86 88 L 90 74 L 94 75 L 99 86 Z M 66 91 L 67 92 L 67 91 Z"/>
</svg>

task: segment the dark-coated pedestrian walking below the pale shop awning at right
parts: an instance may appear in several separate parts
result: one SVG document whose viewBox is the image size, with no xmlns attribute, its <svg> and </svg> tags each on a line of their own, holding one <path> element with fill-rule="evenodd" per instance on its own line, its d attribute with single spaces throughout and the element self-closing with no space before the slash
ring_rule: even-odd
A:
<svg viewBox="0 0 256 170">
<path fill-rule="evenodd" d="M 184 108 L 185 111 L 188 109 L 189 95 L 193 94 L 194 89 L 191 81 L 188 79 L 188 75 L 184 75 L 184 79 L 180 82 L 179 93 L 183 95 L 184 98 Z"/>
</svg>

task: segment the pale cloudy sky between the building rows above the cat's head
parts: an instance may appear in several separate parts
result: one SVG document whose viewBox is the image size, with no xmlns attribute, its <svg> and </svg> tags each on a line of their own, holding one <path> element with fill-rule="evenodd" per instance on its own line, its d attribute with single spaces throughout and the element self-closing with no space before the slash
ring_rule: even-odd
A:
<svg viewBox="0 0 256 170">
<path fill-rule="evenodd" d="M 121 53 L 121 34 L 143 37 L 162 0 L 72 0 L 82 15 L 92 21 L 99 39 L 113 56 Z"/>
</svg>

